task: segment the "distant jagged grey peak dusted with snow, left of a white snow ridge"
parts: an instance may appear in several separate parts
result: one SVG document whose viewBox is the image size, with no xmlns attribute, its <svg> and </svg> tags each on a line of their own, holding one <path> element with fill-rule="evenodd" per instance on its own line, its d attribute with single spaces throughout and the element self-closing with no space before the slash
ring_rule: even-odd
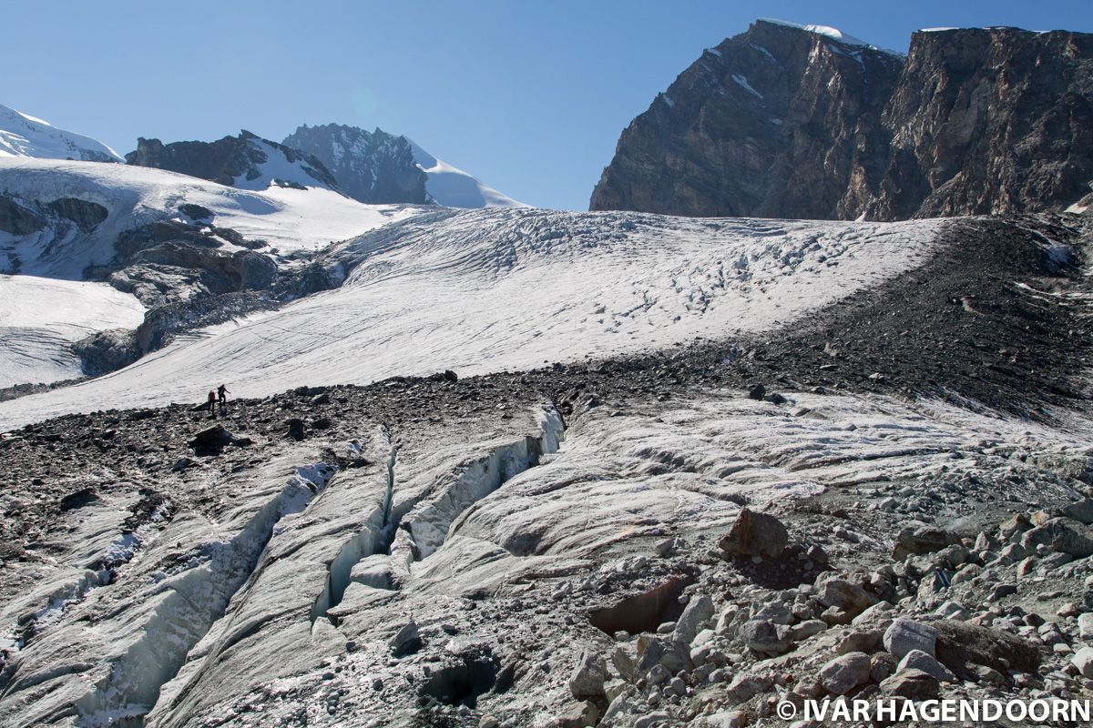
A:
<svg viewBox="0 0 1093 728">
<path fill-rule="evenodd" d="M 430 202 L 425 192 L 426 175 L 414 163 L 406 136 L 325 124 L 303 126 L 285 138 L 286 146 L 302 150 L 319 159 L 331 171 L 339 188 L 361 202 Z"/>
</svg>

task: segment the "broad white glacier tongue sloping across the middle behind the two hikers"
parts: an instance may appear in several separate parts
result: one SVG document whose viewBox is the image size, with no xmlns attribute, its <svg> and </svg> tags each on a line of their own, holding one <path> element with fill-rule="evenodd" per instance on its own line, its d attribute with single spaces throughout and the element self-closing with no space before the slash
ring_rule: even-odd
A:
<svg viewBox="0 0 1093 728">
<path fill-rule="evenodd" d="M 87 401 L 187 401 L 212 381 L 257 396 L 768 330 L 920 264 L 940 226 L 438 211 L 340 247 L 328 262 L 348 273 L 338 289 L 95 381 L 2 403 L 0 428 Z"/>
</svg>

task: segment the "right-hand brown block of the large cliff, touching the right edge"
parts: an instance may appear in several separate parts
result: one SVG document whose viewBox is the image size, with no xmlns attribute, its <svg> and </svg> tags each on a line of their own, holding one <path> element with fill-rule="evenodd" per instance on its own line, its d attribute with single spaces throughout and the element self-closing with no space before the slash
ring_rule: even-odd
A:
<svg viewBox="0 0 1093 728">
<path fill-rule="evenodd" d="M 916 33 L 882 122 L 869 217 L 1066 207 L 1093 181 L 1093 34 Z"/>
</svg>

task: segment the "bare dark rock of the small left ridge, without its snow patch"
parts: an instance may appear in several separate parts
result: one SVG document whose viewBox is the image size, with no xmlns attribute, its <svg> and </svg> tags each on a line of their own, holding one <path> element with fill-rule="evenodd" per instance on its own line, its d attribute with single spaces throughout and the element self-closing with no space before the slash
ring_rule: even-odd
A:
<svg viewBox="0 0 1093 728">
<path fill-rule="evenodd" d="M 297 150 L 260 139 L 249 131 L 238 136 L 225 136 L 215 142 L 173 142 L 164 144 L 157 139 L 137 140 L 137 151 L 126 155 L 126 163 L 139 167 L 167 169 L 191 177 L 200 177 L 221 184 L 233 186 L 238 178 L 256 180 L 262 176 L 259 165 L 269 162 L 265 145 L 283 154 L 289 164 L 299 168 L 318 187 L 338 189 L 334 178 L 321 162 Z M 279 180 L 274 180 L 274 183 Z M 285 184 L 282 181 L 282 184 Z"/>
</svg>

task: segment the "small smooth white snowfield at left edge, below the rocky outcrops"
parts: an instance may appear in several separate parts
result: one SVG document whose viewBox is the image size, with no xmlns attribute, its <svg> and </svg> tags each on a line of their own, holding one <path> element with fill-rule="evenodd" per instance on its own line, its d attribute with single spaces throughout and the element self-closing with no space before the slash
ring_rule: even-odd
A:
<svg viewBox="0 0 1093 728">
<path fill-rule="evenodd" d="M 105 283 L 0 275 L 0 389 L 80 377 L 73 343 L 143 318 L 136 297 Z"/>
</svg>

